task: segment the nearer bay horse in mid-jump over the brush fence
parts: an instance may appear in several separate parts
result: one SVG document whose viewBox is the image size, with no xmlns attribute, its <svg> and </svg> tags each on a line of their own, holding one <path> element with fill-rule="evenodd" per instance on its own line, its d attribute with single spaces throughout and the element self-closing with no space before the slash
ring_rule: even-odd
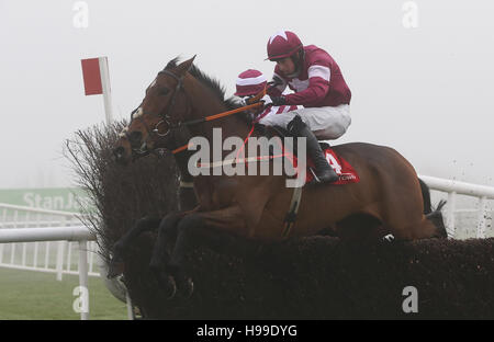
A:
<svg viewBox="0 0 494 342">
<path fill-rule="evenodd" d="M 242 113 L 205 119 L 235 105 L 224 100 L 224 91 L 216 81 L 193 65 L 194 58 L 181 64 L 176 58 L 158 72 L 116 142 L 114 156 L 117 161 L 126 163 L 136 151 L 153 150 L 158 144 L 178 150 L 192 137 L 212 141 L 213 128 L 222 129 L 223 140 L 228 137 L 244 139 L 249 133 L 259 136 L 250 130 L 249 122 Z M 313 236 L 328 226 L 334 226 L 335 233 L 341 238 L 380 240 L 389 233 L 396 240 L 446 237 L 446 230 L 436 227 L 424 215 L 417 173 L 396 150 L 364 142 L 333 148 L 355 168 L 360 182 L 304 186 L 290 238 Z M 228 152 L 222 151 L 222 158 Z M 190 151 L 175 156 L 180 173 L 188 173 Z M 177 288 L 186 296 L 192 292 L 192 282 L 183 271 L 183 260 L 197 243 L 207 241 L 211 247 L 221 249 L 222 243 L 214 240 L 217 232 L 257 241 L 282 240 L 283 220 L 293 193 L 293 189 L 285 186 L 283 175 L 197 175 L 193 189 L 199 205 L 160 220 L 149 264 L 171 284 L 172 294 Z M 372 225 L 356 229 L 355 224 L 360 221 Z M 156 220 L 144 223 L 122 237 L 115 243 L 115 258 L 124 253 L 137 235 L 156 225 Z M 168 252 L 170 241 L 175 241 L 175 246 Z"/>
</svg>

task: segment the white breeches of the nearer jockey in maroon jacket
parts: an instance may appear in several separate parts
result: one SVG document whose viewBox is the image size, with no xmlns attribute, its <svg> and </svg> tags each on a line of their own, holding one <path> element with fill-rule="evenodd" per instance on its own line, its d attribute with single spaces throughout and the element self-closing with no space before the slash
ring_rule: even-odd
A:
<svg viewBox="0 0 494 342">
<path fill-rule="evenodd" d="M 350 105 L 340 104 L 338 106 L 301 109 L 281 114 L 269 114 L 262 117 L 259 123 L 267 126 L 287 125 L 300 115 L 302 121 L 314 132 L 318 140 L 334 140 L 347 132 L 351 124 Z"/>
</svg>

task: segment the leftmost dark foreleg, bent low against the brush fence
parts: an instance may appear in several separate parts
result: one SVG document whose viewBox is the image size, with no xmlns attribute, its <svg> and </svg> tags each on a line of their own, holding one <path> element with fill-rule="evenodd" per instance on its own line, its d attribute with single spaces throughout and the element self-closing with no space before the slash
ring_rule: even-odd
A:
<svg viewBox="0 0 494 342">
<path fill-rule="evenodd" d="M 139 218 L 134 227 L 125 232 L 114 244 L 113 255 L 110 261 L 108 277 L 112 278 L 123 273 L 124 255 L 126 254 L 128 247 L 132 242 L 141 236 L 143 232 L 151 231 L 158 228 L 160 218 L 156 217 L 143 217 Z"/>
</svg>

